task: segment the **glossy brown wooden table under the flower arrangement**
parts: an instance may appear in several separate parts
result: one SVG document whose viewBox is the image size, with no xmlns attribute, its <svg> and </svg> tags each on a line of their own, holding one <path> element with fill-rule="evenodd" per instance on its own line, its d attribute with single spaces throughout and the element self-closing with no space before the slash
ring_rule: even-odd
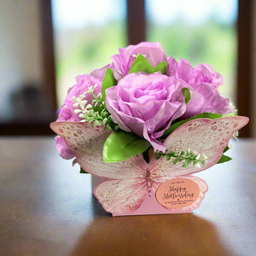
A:
<svg viewBox="0 0 256 256">
<path fill-rule="evenodd" d="M 197 174 L 193 213 L 111 217 L 53 137 L 0 139 L 0 255 L 256 255 L 256 140 Z"/>
</svg>

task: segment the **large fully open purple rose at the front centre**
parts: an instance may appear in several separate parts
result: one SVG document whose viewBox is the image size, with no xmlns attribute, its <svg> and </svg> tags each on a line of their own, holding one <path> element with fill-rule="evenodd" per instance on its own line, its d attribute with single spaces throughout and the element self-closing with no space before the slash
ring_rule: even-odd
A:
<svg viewBox="0 0 256 256">
<path fill-rule="evenodd" d="M 155 150 L 165 151 L 157 138 L 186 109 L 177 79 L 160 73 L 131 73 L 108 88 L 106 95 L 111 118 L 122 130 L 133 131 L 148 140 Z"/>
</svg>

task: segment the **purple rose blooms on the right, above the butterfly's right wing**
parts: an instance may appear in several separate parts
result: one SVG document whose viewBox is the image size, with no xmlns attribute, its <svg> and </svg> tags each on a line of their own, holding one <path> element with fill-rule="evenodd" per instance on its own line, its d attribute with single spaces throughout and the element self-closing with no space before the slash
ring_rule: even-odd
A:
<svg viewBox="0 0 256 256">
<path fill-rule="evenodd" d="M 191 67 L 189 61 L 167 58 L 166 74 L 181 80 L 182 87 L 189 88 L 190 101 L 181 119 L 189 119 L 198 113 L 232 113 L 229 99 L 219 95 L 218 86 L 223 84 L 223 77 L 210 65 L 200 64 Z M 175 72 L 176 70 L 176 72 Z"/>
</svg>

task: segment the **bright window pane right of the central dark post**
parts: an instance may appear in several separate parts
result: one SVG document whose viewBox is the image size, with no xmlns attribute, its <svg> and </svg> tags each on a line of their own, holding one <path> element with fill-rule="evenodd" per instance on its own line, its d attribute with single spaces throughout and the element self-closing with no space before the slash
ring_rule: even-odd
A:
<svg viewBox="0 0 256 256">
<path fill-rule="evenodd" d="M 236 104 L 236 0 L 147 0 L 147 40 L 192 66 L 210 64 L 224 77 L 219 90 Z"/>
</svg>

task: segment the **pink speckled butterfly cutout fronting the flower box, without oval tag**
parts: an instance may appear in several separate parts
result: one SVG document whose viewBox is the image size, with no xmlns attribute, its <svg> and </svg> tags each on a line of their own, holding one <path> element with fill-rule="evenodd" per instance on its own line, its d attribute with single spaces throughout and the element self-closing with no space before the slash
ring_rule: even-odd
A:
<svg viewBox="0 0 256 256">
<path fill-rule="evenodd" d="M 199 207 L 207 192 L 207 183 L 191 174 L 215 165 L 234 132 L 247 122 L 247 117 L 230 116 L 219 119 L 192 119 L 180 125 L 166 137 L 166 152 L 180 153 L 192 150 L 205 155 L 207 159 L 202 165 L 192 163 L 186 167 L 183 162 L 175 163 L 163 156 L 159 158 L 157 153 L 151 155 L 148 163 L 142 154 L 121 162 L 106 163 L 102 157 L 102 149 L 112 131 L 106 130 L 104 125 L 54 122 L 50 127 L 64 138 L 84 171 L 106 177 L 106 181 L 96 186 L 94 195 L 107 212 L 117 216 L 192 212 Z M 189 206 L 166 208 L 157 201 L 156 191 L 161 184 L 177 177 L 196 183 L 200 193 Z"/>
</svg>

